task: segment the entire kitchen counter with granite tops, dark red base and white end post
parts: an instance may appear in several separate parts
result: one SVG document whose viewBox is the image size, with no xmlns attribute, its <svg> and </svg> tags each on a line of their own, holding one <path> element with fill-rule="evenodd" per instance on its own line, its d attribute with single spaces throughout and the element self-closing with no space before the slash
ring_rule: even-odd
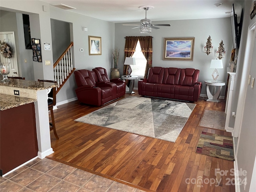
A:
<svg viewBox="0 0 256 192">
<path fill-rule="evenodd" d="M 35 157 L 42 159 L 54 152 L 47 89 L 57 86 L 57 83 L 20 79 L 0 82 L 0 174 L 8 174 Z"/>
</svg>

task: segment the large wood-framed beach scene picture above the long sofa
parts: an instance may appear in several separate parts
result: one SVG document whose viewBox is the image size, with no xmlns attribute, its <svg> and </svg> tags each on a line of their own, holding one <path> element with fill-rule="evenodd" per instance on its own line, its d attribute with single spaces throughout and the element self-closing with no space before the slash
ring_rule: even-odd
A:
<svg viewBox="0 0 256 192">
<path fill-rule="evenodd" d="M 163 60 L 192 61 L 195 38 L 164 38 Z"/>
</svg>

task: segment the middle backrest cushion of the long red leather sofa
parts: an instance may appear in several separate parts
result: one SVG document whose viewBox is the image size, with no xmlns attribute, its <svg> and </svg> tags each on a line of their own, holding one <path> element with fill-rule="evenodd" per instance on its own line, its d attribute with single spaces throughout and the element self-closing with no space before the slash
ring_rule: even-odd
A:
<svg viewBox="0 0 256 192">
<path fill-rule="evenodd" d="M 179 68 L 172 68 L 172 67 L 165 68 L 163 84 L 178 85 L 179 77 L 180 77 L 180 70 L 181 69 L 179 69 Z"/>
</svg>

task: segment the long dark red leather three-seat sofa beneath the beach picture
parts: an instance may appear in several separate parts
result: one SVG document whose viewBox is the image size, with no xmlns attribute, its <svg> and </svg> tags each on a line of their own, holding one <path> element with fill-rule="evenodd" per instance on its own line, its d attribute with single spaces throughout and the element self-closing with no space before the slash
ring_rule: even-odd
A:
<svg viewBox="0 0 256 192">
<path fill-rule="evenodd" d="M 175 100 L 197 101 L 202 89 L 199 70 L 152 67 L 148 78 L 138 81 L 138 94 Z"/>
</svg>

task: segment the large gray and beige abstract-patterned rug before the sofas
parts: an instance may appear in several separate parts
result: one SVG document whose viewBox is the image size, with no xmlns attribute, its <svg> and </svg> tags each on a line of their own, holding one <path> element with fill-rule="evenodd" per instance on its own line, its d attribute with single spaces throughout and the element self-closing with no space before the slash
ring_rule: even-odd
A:
<svg viewBox="0 0 256 192">
<path fill-rule="evenodd" d="M 75 121 L 175 142 L 196 104 L 130 96 Z"/>
</svg>

